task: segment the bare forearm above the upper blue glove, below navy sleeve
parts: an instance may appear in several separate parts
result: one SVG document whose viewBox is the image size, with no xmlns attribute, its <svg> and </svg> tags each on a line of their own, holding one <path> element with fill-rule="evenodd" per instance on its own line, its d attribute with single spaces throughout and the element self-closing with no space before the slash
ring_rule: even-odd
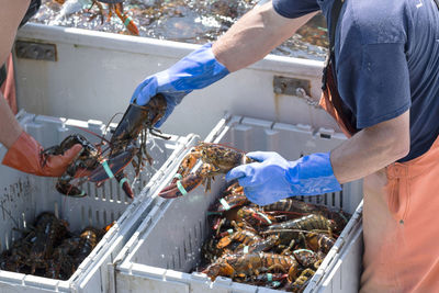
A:
<svg viewBox="0 0 439 293">
<path fill-rule="evenodd" d="M 237 21 L 215 44 L 216 59 L 236 71 L 262 59 L 292 36 L 315 13 L 299 19 L 279 15 L 271 2 L 257 7 Z"/>
</svg>

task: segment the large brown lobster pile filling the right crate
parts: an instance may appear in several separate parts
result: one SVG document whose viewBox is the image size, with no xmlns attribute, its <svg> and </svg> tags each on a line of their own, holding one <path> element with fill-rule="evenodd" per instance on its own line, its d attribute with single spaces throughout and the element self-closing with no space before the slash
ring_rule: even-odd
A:
<svg viewBox="0 0 439 293">
<path fill-rule="evenodd" d="M 261 207 L 237 182 L 209 215 L 212 235 L 202 246 L 202 272 L 289 292 L 305 289 L 350 217 L 294 199 Z"/>
</svg>

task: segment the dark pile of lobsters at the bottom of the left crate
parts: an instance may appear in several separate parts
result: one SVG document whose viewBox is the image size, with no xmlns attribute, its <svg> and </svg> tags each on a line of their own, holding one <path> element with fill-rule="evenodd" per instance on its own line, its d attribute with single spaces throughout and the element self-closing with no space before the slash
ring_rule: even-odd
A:
<svg viewBox="0 0 439 293">
<path fill-rule="evenodd" d="M 0 256 L 0 269 L 52 279 L 68 280 L 105 234 L 87 227 L 79 234 L 53 213 L 40 214 L 33 227 Z"/>
</svg>

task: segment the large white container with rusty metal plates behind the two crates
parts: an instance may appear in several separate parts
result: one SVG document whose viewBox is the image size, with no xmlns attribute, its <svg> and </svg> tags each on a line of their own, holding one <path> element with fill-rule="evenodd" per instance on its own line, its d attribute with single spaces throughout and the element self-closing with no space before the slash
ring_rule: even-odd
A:
<svg viewBox="0 0 439 293">
<path fill-rule="evenodd" d="M 123 112 L 134 89 L 147 76 L 167 69 L 198 45 L 29 23 L 19 41 L 52 44 L 56 61 L 18 58 L 13 50 L 18 104 L 27 112 L 109 121 Z M 250 67 L 191 92 L 161 129 L 205 137 L 225 112 L 314 128 L 337 128 L 320 108 L 297 95 L 275 91 L 275 76 L 309 82 L 312 100 L 322 93 L 323 61 L 268 55 Z M 196 119 L 194 119 L 196 117 Z M 202 122 L 202 123 L 200 123 Z"/>
</svg>

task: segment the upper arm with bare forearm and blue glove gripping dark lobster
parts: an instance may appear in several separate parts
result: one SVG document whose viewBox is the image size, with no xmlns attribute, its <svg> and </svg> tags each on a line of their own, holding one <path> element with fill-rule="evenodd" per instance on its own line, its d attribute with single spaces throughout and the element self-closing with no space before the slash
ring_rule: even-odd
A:
<svg viewBox="0 0 439 293">
<path fill-rule="evenodd" d="M 194 50 L 167 70 L 147 77 L 134 91 L 131 102 L 144 105 L 162 93 L 168 108 L 156 124 L 160 126 L 192 90 L 202 89 L 270 53 L 292 36 L 313 13 L 297 19 L 278 14 L 271 2 L 256 7 L 238 20 L 216 43 Z"/>
</svg>

